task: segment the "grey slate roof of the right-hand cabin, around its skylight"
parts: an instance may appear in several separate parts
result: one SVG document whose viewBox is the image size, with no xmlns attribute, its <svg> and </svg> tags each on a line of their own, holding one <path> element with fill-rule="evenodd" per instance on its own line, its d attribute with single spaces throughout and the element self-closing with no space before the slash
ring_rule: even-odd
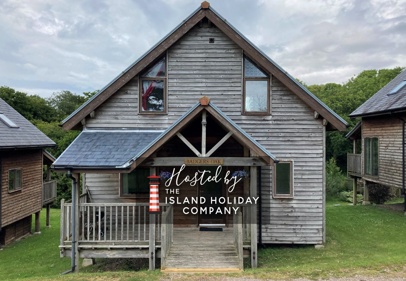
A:
<svg viewBox="0 0 406 281">
<path fill-rule="evenodd" d="M 386 84 L 386 86 L 370 97 L 349 116 L 354 118 L 394 110 L 406 110 L 406 86 L 395 94 L 387 95 L 404 79 L 406 79 L 406 70 L 396 76 L 391 82 Z"/>
</svg>

